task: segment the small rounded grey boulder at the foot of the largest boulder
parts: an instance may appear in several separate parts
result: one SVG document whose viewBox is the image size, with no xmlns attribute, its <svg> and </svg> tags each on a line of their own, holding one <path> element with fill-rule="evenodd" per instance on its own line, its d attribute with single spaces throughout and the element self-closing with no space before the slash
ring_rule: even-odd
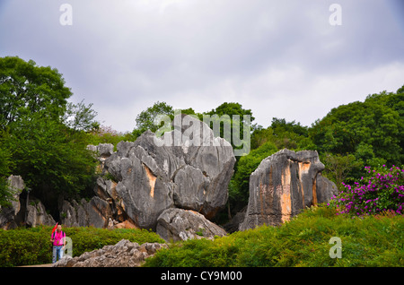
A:
<svg viewBox="0 0 404 285">
<path fill-rule="evenodd" d="M 226 235 L 224 229 L 192 210 L 167 209 L 157 221 L 157 234 L 167 242 Z"/>
</svg>

